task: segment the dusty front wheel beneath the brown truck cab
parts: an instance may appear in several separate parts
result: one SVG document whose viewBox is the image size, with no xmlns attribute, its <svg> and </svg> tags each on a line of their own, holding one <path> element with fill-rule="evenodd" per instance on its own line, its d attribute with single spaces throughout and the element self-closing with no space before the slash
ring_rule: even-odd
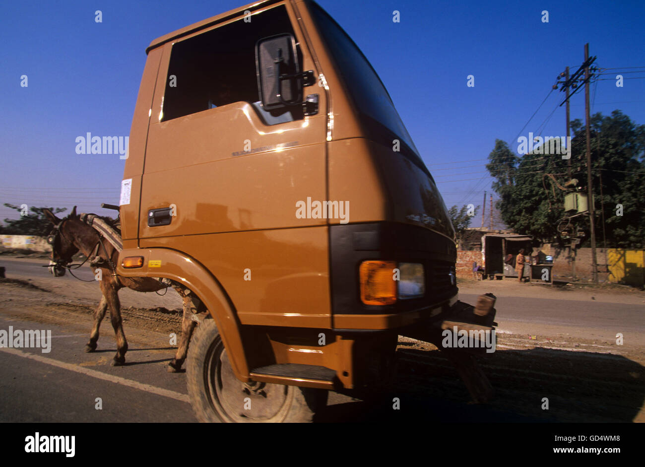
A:
<svg viewBox="0 0 645 467">
<path fill-rule="evenodd" d="M 186 379 L 201 422 L 310 422 L 327 404 L 326 390 L 239 381 L 213 319 L 204 319 L 195 329 Z"/>
</svg>

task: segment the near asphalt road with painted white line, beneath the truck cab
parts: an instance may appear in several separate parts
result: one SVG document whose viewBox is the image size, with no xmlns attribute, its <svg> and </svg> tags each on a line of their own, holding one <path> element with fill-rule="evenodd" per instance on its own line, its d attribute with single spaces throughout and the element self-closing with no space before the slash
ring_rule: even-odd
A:
<svg viewBox="0 0 645 467">
<path fill-rule="evenodd" d="M 38 324 L 0 314 L 0 329 L 38 329 Z M 41 349 L 0 348 L 0 422 L 195 422 L 188 402 L 185 373 L 166 373 L 174 349 L 164 335 L 145 343 L 130 333 L 126 366 L 110 360 L 114 342 L 99 339 L 95 353 L 83 353 L 83 326 L 46 324 L 52 330 L 51 352 Z M 112 341 L 112 342 L 110 342 Z M 459 382 L 455 381 L 456 384 Z M 453 383 L 453 384 L 455 384 Z M 392 409 L 399 397 L 400 410 Z M 97 409 L 101 399 L 101 410 Z M 539 421 L 486 406 L 419 397 L 399 391 L 365 402 L 330 393 L 320 422 L 410 421 Z"/>
</svg>

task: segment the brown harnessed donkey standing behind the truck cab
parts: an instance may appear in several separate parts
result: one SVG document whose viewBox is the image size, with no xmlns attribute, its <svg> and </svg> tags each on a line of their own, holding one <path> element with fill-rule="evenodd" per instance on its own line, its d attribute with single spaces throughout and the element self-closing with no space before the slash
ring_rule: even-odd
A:
<svg viewBox="0 0 645 467">
<path fill-rule="evenodd" d="M 118 292 L 121 288 L 127 287 L 137 292 L 156 292 L 168 285 L 161 283 L 152 277 L 121 277 L 116 274 L 115 263 L 118 261 L 119 252 L 111 243 L 104 241 L 101 234 L 92 226 L 84 223 L 76 214 L 76 206 L 64 219 L 59 219 L 50 210 L 43 210 L 47 219 L 54 224 L 54 230 L 48 236 L 48 243 L 52 244 L 52 255 L 50 257 L 49 270 L 55 277 L 64 275 L 65 270 L 72 263 L 72 256 L 77 252 L 83 253 L 90 259 L 90 265 L 101 269 L 101 302 L 94 312 L 94 327 L 90 334 L 90 341 L 85 346 L 85 352 L 94 352 L 99 340 L 99 326 L 105 316 L 106 310 L 110 309 L 112 327 L 117 338 L 117 353 L 112 360 L 112 366 L 120 366 L 125 363 L 125 353 L 128 351 L 128 341 L 123 332 L 121 320 L 121 303 Z M 86 260 L 87 261 L 87 260 Z M 70 273 L 72 273 L 70 271 Z M 175 358 L 168 363 L 168 372 L 175 373 L 181 370 L 186 360 L 188 344 L 195 325 L 198 323 L 198 316 L 204 315 L 204 305 L 195 295 L 179 284 L 172 284 L 173 288 L 183 298 L 183 321 L 181 324 L 182 336 L 179 341 Z"/>
</svg>

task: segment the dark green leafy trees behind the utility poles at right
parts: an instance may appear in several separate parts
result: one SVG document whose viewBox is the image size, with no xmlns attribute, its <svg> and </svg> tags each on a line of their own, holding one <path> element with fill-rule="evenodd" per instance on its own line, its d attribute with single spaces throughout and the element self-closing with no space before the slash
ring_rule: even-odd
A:
<svg viewBox="0 0 645 467">
<path fill-rule="evenodd" d="M 560 186 L 570 178 L 587 191 L 586 135 L 581 121 L 571 123 L 571 177 L 567 161 L 559 154 L 526 154 L 519 158 L 504 141 L 496 140 L 486 168 L 495 178 L 493 190 L 499 195 L 497 208 L 504 223 L 518 234 L 543 241 L 559 237 L 559 221 L 564 212 Z M 619 110 L 611 116 L 595 114 L 590 121 L 591 174 L 596 211 L 597 244 L 602 244 L 602 210 L 607 246 L 643 248 L 645 246 L 645 125 L 634 124 Z M 600 190 L 602 186 L 602 196 Z M 617 204 L 623 215 L 617 216 Z M 601 207 L 602 206 L 602 207 Z M 579 229 L 589 232 L 588 215 L 572 219 Z M 566 222 L 565 222 L 566 223 Z M 587 235 L 588 237 L 588 235 Z"/>
</svg>

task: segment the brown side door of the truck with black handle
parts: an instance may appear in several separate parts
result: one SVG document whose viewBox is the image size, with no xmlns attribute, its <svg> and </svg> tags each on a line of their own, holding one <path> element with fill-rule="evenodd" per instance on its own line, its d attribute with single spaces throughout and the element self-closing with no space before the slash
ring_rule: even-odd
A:
<svg viewBox="0 0 645 467">
<path fill-rule="evenodd" d="M 290 8 L 239 12 L 159 45 L 139 246 L 174 248 L 205 264 L 243 323 L 283 313 L 328 326 L 326 219 L 295 215 L 298 201 L 326 199 L 324 88 L 317 79 L 303 88 L 303 101 L 317 108 L 271 111 L 258 91 L 256 45 L 275 35 L 293 35 L 302 70 L 318 75 Z M 252 282 L 243 280 L 247 269 Z M 294 294 L 299 281 L 321 296 Z"/>
</svg>

